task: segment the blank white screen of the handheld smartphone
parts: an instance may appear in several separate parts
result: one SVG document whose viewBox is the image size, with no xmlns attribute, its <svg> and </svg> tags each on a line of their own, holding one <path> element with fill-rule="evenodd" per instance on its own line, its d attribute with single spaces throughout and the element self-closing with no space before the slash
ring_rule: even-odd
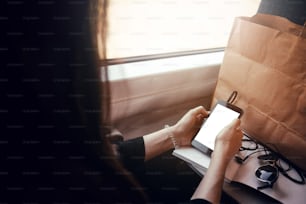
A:
<svg viewBox="0 0 306 204">
<path fill-rule="evenodd" d="M 217 104 L 194 139 L 213 150 L 218 133 L 238 118 L 239 114 L 230 108 Z"/>
</svg>

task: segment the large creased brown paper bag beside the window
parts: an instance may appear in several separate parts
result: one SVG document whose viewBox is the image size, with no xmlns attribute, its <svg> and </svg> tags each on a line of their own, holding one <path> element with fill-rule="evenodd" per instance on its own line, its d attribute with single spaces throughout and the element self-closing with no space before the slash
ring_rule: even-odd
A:
<svg viewBox="0 0 306 204">
<path fill-rule="evenodd" d="M 235 90 L 242 128 L 306 170 L 306 29 L 257 14 L 235 19 L 212 106 Z"/>
</svg>

